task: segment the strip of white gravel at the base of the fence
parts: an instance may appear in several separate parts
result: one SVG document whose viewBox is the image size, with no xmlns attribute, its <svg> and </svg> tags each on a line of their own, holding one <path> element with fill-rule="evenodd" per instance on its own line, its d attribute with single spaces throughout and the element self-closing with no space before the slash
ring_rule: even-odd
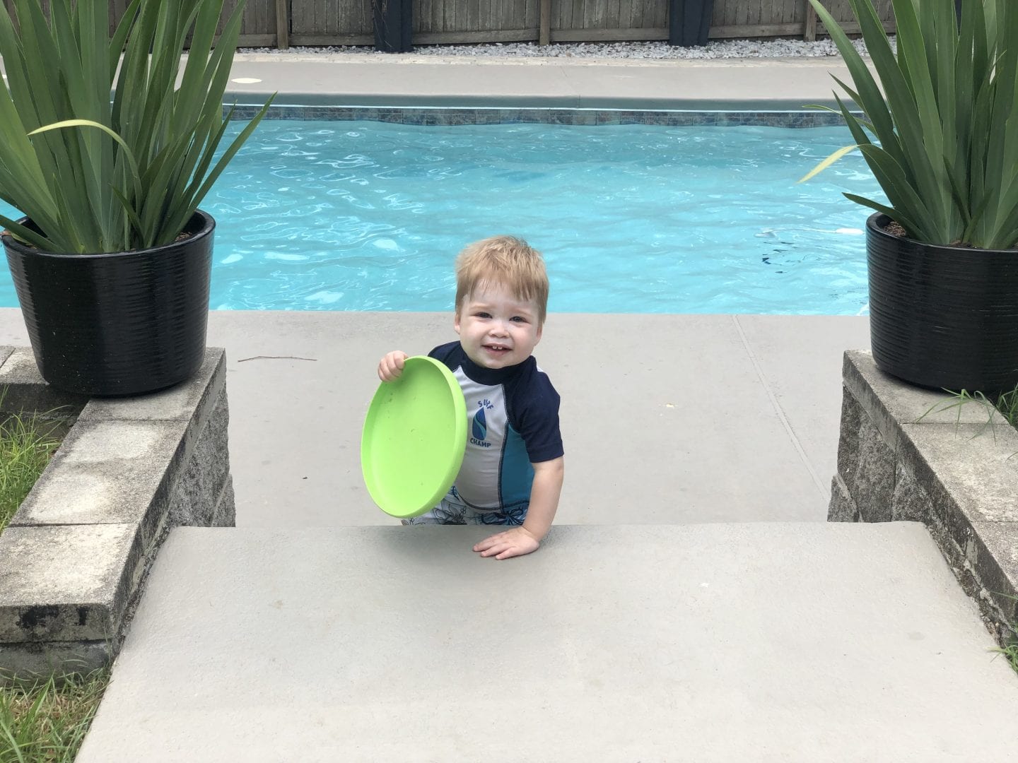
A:
<svg viewBox="0 0 1018 763">
<path fill-rule="evenodd" d="M 894 39 L 892 38 L 892 43 Z M 854 41 L 856 49 L 865 54 L 861 40 Z M 241 48 L 241 53 L 272 53 L 281 56 L 307 53 L 351 53 L 359 55 L 392 56 L 369 47 L 323 46 L 299 47 L 285 51 L 275 48 Z M 413 49 L 418 56 L 516 56 L 523 58 L 819 58 L 837 56 L 838 49 L 830 40 L 804 43 L 801 40 L 720 40 L 703 48 L 671 47 L 667 43 L 494 43 L 490 45 L 420 45 Z"/>
</svg>

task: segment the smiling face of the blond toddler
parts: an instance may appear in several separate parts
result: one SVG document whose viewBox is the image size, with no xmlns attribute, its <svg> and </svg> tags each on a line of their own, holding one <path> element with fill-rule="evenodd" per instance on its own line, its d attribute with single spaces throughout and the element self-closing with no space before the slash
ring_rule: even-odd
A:
<svg viewBox="0 0 1018 763">
<path fill-rule="evenodd" d="M 482 284 L 463 298 L 454 326 L 467 357 L 485 368 L 522 363 L 541 341 L 538 305 L 501 284 Z"/>
</svg>

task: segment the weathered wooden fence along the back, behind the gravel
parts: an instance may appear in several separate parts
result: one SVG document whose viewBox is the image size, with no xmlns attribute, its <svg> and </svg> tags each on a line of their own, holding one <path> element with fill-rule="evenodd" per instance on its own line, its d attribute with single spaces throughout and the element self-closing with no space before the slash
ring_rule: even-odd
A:
<svg viewBox="0 0 1018 763">
<path fill-rule="evenodd" d="M 79 0 L 93 2 L 94 0 Z M 165 0 L 174 2 L 175 0 Z M 384 1 L 384 0 L 379 0 Z M 8 7 L 10 0 L 5 0 Z M 42 0 L 44 7 L 47 0 Z M 109 0 L 119 18 L 128 0 Z M 237 0 L 226 0 L 224 14 Z M 413 0 L 413 44 L 606 42 L 668 39 L 668 0 Z M 858 32 L 848 0 L 824 0 L 842 27 Z M 875 0 L 893 32 L 891 0 Z M 711 38 L 825 35 L 806 0 L 715 0 Z M 372 0 L 247 0 L 244 47 L 373 45 Z"/>
</svg>

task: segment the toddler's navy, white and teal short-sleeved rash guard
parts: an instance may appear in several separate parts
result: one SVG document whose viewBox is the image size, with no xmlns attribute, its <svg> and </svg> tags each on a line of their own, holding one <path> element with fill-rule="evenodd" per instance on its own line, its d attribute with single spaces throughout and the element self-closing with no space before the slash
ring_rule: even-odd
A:
<svg viewBox="0 0 1018 763">
<path fill-rule="evenodd" d="M 459 342 L 429 355 L 453 372 L 466 398 L 466 453 L 453 485 L 459 500 L 479 510 L 525 508 L 531 463 L 563 455 L 559 394 L 529 357 L 508 368 L 485 368 Z"/>
</svg>

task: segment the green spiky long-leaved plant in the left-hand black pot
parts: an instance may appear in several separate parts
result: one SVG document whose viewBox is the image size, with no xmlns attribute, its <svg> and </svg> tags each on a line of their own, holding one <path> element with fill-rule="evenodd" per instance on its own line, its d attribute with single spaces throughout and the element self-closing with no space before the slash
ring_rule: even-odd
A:
<svg viewBox="0 0 1018 763">
<path fill-rule="evenodd" d="M 213 47 L 223 0 L 132 0 L 112 35 L 105 0 L 0 3 L 0 198 L 35 229 L 0 223 L 53 252 L 173 242 L 272 101 L 214 163 L 243 5 Z"/>
</svg>

